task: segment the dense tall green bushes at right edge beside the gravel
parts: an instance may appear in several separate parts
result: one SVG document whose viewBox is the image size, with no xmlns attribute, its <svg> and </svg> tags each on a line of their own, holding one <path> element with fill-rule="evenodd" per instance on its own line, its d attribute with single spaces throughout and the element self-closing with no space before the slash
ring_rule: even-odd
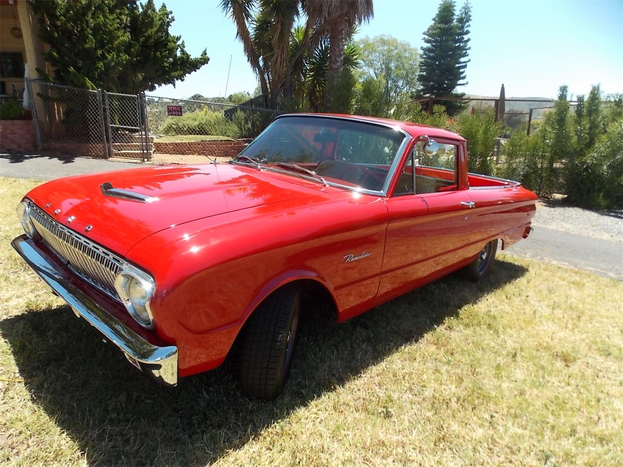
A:
<svg viewBox="0 0 623 467">
<path fill-rule="evenodd" d="M 511 134 L 496 175 L 520 181 L 540 197 L 565 194 L 589 209 L 623 205 L 623 97 L 602 100 L 599 86 L 571 111 L 567 88 L 554 110 L 526 136 Z"/>
</svg>

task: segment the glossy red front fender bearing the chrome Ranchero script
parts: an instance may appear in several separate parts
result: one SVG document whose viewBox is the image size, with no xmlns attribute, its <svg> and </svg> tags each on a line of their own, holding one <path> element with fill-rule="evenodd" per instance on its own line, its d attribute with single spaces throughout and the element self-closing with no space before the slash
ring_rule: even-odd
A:
<svg viewBox="0 0 623 467">
<path fill-rule="evenodd" d="M 288 282 L 320 283 L 338 312 L 373 300 L 386 222 L 372 196 L 290 200 L 172 226 L 128 260 L 153 275 L 156 333 L 178 347 L 180 374 L 191 374 L 220 364 L 252 311 Z M 361 252 L 364 260 L 343 259 Z"/>
</svg>

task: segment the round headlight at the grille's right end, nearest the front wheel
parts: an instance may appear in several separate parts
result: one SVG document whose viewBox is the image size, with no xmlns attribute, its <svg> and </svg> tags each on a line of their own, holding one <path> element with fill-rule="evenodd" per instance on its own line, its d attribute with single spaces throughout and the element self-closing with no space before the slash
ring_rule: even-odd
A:
<svg viewBox="0 0 623 467">
<path fill-rule="evenodd" d="M 156 289 L 153 278 L 128 265 L 115 279 L 115 289 L 132 318 L 141 326 L 151 328 L 153 316 L 150 302 Z"/>
</svg>

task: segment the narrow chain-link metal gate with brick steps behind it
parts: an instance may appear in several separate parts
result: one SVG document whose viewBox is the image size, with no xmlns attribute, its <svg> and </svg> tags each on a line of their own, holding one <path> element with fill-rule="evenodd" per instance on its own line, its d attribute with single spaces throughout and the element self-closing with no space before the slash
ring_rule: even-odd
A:
<svg viewBox="0 0 623 467">
<path fill-rule="evenodd" d="M 151 160 L 145 94 L 102 92 L 108 134 L 108 157 Z"/>
</svg>

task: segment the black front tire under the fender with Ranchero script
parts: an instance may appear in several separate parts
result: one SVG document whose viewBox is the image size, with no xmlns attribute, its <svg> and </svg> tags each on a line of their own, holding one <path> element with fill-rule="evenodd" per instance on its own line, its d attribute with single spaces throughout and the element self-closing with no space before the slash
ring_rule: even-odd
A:
<svg viewBox="0 0 623 467">
<path fill-rule="evenodd" d="M 255 309 L 245 324 L 240 346 L 242 391 L 274 399 L 288 378 L 297 333 L 300 291 L 285 285 Z"/>
</svg>

